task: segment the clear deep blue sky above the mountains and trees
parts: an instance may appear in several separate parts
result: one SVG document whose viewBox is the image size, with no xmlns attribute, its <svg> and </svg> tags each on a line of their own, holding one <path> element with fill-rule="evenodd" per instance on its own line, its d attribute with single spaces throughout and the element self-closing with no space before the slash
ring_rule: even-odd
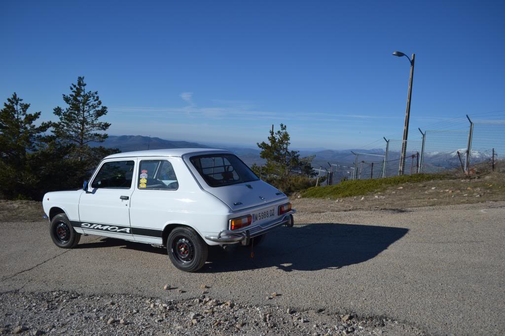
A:
<svg viewBox="0 0 505 336">
<path fill-rule="evenodd" d="M 77 76 L 109 134 L 254 147 L 287 124 L 296 147 L 401 138 L 505 110 L 505 3 L 2 2 L 0 98 L 54 119 Z M 417 134 L 416 134 L 417 136 Z"/>
</svg>

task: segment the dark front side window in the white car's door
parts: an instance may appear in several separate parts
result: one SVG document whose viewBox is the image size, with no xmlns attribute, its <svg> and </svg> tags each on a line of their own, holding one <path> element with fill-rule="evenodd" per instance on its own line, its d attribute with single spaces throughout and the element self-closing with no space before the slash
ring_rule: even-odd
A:
<svg viewBox="0 0 505 336">
<path fill-rule="evenodd" d="M 130 189 L 133 180 L 135 161 L 105 162 L 96 174 L 91 188 L 120 188 Z"/>
</svg>

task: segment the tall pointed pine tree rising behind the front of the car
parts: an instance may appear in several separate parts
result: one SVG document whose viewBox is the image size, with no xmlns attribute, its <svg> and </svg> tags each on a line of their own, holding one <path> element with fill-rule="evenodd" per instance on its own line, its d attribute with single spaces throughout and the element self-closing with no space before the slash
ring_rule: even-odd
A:
<svg viewBox="0 0 505 336">
<path fill-rule="evenodd" d="M 97 91 L 86 91 L 84 77 L 78 77 L 77 84 L 72 84 L 70 90 L 69 95 L 63 95 L 68 107 L 57 106 L 54 109 L 54 114 L 60 119 L 54 133 L 60 139 L 75 144 L 76 156 L 82 161 L 92 156 L 89 143 L 107 139 L 107 134 L 103 132 L 111 124 L 98 121 L 107 115 L 107 107 L 102 105 Z"/>
</svg>

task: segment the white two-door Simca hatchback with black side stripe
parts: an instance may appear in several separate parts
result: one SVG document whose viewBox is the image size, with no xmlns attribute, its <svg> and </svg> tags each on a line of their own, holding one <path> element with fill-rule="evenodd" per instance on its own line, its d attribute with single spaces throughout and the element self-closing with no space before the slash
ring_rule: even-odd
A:
<svg viewBox="0 0 505 336">
<path fill-rule="evenodd" d="M 192 272 L 205 264 L 208 245 L 256 245 L 293 225 L 287 196 L 226 150 L 113 154 L 89 181 L 44 195 L 49 233 L 61 248 L 83 234 L 165 246 L 177 268 Z"/>
</svg>

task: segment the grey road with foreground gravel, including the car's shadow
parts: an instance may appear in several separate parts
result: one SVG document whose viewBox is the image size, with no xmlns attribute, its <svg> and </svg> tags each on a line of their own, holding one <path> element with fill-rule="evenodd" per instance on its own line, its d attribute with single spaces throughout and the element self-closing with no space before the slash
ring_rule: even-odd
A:
<svg viewBox="0 0 505 336">
<path fill-rule="evenodd" d="M 212 249 L 192 274 L 149 245 L 87 236 L 62 250 L 46 221 L 0 222 L 1 331 L 505 333 L 505 202 L 295 220 L 254 258 Z"/>
</svg>

